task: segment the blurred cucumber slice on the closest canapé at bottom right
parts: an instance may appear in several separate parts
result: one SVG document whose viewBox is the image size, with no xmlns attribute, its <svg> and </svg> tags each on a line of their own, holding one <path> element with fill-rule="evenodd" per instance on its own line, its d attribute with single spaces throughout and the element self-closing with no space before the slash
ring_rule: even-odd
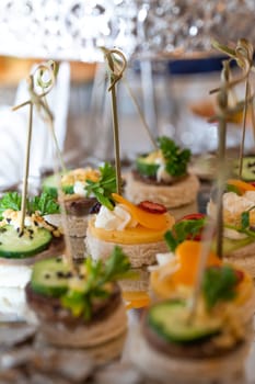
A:
<svg viewBox="0 0 255 384">
<path fill-rule="evenodd" d="M 167 342 L 189 343 L 219 334 L 221 320 L 215 317 L 195 317 L 188 323 L 189 310 L 185 302 L 166 301 L 155 304 L 148 314 L 148 323 Z"/>
</svg>

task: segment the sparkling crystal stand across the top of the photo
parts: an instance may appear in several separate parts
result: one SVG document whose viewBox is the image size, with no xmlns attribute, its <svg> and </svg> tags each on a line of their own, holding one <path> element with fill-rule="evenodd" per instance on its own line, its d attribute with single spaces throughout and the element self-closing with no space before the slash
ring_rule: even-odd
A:
<svg viewBox="0 0 255 384">
<path fill-rule="evenodd" d="M 100 46 L 127 56 L 209 53 L 245 36 L 255 42 L 254 0 L 1 0 L 0 54 L 102 60 Z"/>
</svg>

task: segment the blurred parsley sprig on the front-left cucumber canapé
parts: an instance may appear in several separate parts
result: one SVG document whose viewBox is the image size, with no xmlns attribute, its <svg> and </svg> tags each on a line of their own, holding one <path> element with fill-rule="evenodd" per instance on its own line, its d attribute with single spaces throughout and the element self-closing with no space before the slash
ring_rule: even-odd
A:
<svg viewBox="0 0 255 384">
<path fill-rule="evenodd" d="M 92 317 L 93 302 L 109 297 L 109 282 L 124 279 L 130 269 L 130 262 L 121 248 L 115 247 L 105 263 L 102 260 L 88 258 L 84 261 L 85 276 L 77 279 L 68 291 L 60 297 L 63 307 L 71 310 L 76 317 L 90 320 Z"/>
</svg>

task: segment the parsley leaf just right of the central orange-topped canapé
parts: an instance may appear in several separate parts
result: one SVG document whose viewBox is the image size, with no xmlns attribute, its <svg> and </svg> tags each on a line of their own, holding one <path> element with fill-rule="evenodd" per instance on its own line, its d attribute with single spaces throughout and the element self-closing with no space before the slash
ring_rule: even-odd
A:
<svg viewBox="0 0 255 384">
<path fill-rule="evenodd" d="M 176 223 L 172 230 L 167 230 L 164 235 L 167 247 L 171 251 L 184 240 L 194 240 L 206 225 L 206 217 L 198 219 L 184 219 Z"/>
</svg>

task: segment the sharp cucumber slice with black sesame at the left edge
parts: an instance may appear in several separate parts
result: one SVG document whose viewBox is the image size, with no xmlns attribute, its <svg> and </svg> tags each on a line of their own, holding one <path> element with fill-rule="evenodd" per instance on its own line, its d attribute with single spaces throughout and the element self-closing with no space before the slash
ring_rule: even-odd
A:
<svg viewBox="0 0 255 384">
<path fill-rule="evenodd" d="M 51 233 L 45 228 L 32 231 L 32 228 L 26 227 L 25 234 L 19 237 L 16 229 L 12 225 L 1 227 L 0 256 L 10 259 L 23 259 L 45 250 L 53 238 Z"/>
</svg>

